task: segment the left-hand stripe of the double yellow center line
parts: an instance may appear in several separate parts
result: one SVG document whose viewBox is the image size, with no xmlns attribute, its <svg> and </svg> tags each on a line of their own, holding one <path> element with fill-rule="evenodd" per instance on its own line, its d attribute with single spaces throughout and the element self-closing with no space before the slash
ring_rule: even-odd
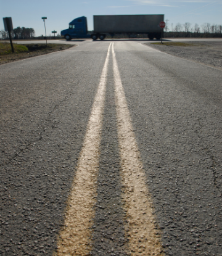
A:
<svg viewBox="0 0 222 256">
<path fill-rule="evenodd" d="M 111 46 L 111 44 L 110 44 Z M 101 80 L 92 106 L 83 148 L 81 149 L 72 191 L 68 198 L 65 225 L 60 232 L 57 252 L 54 255 L 89 255 L 91 251 L 91 226 L 94 217 L 96 181 L 99 168 L 102 115 L 110 46 L 102 70 Z"/>
</svg>

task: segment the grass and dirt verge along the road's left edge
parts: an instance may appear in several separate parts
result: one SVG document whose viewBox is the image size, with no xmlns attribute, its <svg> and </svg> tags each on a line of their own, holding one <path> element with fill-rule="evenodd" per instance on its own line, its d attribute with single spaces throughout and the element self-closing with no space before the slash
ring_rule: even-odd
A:
<svg viewBox="0 0 222 256">
<path fill-rule="evenodd" d="M 23 51 L 19 51 L 20 47 Z M 75 45 L 74 45 L 75 46 Z M 12 53 L 10 43 L 0 43 L 0 64 L 6 64 L 14 60 L 27 59 L 55 51 L 62 51 L 73 47 L 73 44 L 14 44 L 15 53 Z M 17 51 L 18 49 L 18 51 Z"/>
</svg>

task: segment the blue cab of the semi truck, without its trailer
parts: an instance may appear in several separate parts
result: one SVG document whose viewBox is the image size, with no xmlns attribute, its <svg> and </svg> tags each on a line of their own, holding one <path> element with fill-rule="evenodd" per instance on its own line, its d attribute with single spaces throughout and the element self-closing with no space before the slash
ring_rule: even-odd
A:
<svg viewBox="0 0 222 256">
<path fill-rule="evenodd" d="M 61 31 L 61 37 L 68 40 L 72 38 L 91 38 L 88 34 L 87 19 L 82 16 L 69 23 L 67 30 Z"/>
</svg>

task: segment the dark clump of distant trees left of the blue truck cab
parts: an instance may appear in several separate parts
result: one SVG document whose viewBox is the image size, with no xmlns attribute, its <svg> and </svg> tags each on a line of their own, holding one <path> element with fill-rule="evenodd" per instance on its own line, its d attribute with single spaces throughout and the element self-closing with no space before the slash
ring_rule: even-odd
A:
<svg viewBox="0 0 222 256">
<path fill-rule="evenodd" d="M 35 37 L 35 30 L 34 28 L 17 27 L 12 30 L 11 35 L 14 39 L 29 39 Z M 1 30 L 0 37 L 1 39 L 7 39 L 9 38 L 9 34 L 8 32 Z"/>
</svg>

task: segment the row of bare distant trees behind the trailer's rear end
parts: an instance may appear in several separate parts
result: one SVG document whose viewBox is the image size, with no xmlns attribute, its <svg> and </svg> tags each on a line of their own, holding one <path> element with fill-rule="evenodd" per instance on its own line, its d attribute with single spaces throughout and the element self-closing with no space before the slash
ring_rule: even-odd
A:
<svg viewBox="0 0 222 256">
<path fill-rule="evenodd" d="M 175 26 L 171 23 L 171 30 L 169 27 L 165 27 L 165 37 L 222 37 L 222 25 L 217 24 L 204 23 L 199 26 L 195 23 L 192 26 L 191 23 L 186 22 L 176 23 Z"/>
</svg>

